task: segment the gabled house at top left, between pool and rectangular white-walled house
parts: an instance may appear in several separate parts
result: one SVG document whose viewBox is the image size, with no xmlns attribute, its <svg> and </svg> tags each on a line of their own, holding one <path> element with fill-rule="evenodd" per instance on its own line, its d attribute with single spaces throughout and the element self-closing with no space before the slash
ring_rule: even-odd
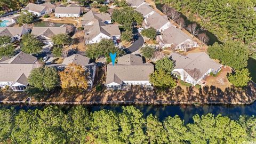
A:
<svg viewBox="0 0 256 144">
<path fill-rule="evenodd" d="M 37 15 L 37 17 L 41 17 L 42 15 L 54 12 L 55 5 L 49 2 L 43 4 L 29 3 L 23 10 L 27 10 L 28 12 Z"/>
</svg>

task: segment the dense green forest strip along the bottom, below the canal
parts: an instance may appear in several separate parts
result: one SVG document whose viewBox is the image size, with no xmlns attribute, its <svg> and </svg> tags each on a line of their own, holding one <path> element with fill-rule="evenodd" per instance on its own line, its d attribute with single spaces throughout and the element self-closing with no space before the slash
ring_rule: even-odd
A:
<svg viewBox="0 0 256 144">
<path fill-rule="evenodd" d="M 122 112 L 89 113 L 84 106 L 70 111 L 48 106 L 43 110 L 0 109 L 2 143 L 243 143 L 256 140 L 256 117 L 194 115 L 184 124 L 179 116 L 163 122 L 143 116 L 133 106 Z"/>
</svg>

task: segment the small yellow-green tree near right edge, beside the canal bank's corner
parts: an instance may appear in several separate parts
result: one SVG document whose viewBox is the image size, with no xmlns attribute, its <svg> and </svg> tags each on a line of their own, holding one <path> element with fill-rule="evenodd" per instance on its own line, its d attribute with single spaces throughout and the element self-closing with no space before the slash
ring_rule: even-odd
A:
<svg viewBox="0 0 256 144">
<path fill-rule="evenodd" d="M 228 81 L 238 87 L 246 86 L 251 77 L 249 76 L 249 70 L 247 68 L 236 70 L 235 73 L 228 75 Z"/>
</svg>

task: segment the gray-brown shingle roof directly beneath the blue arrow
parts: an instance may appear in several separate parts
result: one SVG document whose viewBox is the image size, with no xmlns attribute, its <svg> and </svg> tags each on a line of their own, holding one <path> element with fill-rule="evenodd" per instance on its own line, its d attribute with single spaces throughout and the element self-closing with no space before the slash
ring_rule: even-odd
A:
<svg viewBox="0 0 256 144">
<path fill-rule="evenodd" d="M 127 56 L 128 55 L 128 56 Z M 121 81 L 149 81 L 149 74 L 154 72 L 154 66 L 151 63 L 142 63 L 142 59 L 133 54 L 124 55 L 125 58 L 119 58 L 113 66 L 107 66 L 106 84 L 112 82 L 122 84 Z M 127 62 L 132 58 L 133 63 Z M 137 63 L 137 64 L 135 64 Z"/>
</svg>

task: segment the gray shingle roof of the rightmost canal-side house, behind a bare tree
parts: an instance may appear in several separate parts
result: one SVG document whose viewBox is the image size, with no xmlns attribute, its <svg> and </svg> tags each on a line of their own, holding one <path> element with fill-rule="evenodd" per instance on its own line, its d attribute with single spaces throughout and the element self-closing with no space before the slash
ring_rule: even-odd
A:
<svg viewBox="0 0 256 144">
<path fill-rule="evenodd" d="M 221 67 L 220 63 L 215 62 L 205 52 L 189 53 L 187 56 L 173 52 L 170 58 L 175 63 L 175 69 L 184 69 L 191 77 L 195 70 L 199 70 L 203 76 L 209 69 L 218 70 Z"/>
</svg>

